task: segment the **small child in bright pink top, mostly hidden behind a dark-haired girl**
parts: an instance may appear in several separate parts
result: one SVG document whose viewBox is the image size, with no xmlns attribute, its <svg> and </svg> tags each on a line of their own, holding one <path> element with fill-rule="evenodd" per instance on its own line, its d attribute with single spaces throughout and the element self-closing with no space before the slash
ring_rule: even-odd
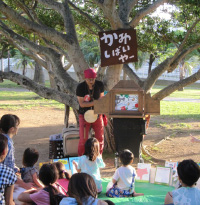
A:
<svg viewBox="0 0 200 205">
<path fill-rule="evenodd" d="M 69 179 L 71 176 L 69 173 L 65 170 L 65 166 L 62 162 L 55 162 L 56 168 L 58 170 L 58 180 L 57 183 L 62 186 L 65 189 L 65 192 L 68 191 L 68 185 L 69 185 Z"/>
</svg>

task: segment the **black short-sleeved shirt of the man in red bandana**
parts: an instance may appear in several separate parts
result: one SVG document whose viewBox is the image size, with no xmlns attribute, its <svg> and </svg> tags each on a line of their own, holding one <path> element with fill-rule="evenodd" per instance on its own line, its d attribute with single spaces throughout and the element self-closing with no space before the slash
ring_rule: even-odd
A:
<svg viewBox="0 0 200 205">
<path fill-rule="evenodd" d="M 85 97 L 85 95 L 89 95 L 89 88 L 88 85 L 85 81 L 83 81 L 82 83 L 80 83 L 77 86 L 76 89 L 76 95 L 78 97 Z M 104 85 L 101 81 L 99 80 L 95 80 L 94 83 L 94 92 L 92 92 L 92 90 L 90 90 L 90 94 L 93 93 L 93 99 L 94 100 L 98 100 L 100 97 L 100 94 L 104 92 Z M 81 107 L 79 105 L 79 114 L 84 114 L 87 110 L 90 110 L 93 107 Z"/>
</svg>

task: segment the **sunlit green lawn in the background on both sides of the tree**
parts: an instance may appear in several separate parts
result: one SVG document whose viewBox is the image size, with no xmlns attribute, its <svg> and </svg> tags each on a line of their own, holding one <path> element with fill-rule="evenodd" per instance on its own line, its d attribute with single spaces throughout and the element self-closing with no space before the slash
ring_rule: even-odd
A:
<svg viewBox="0 0 200 205">
<path fill-rule="evenodd" d="M 46 82 L 49 86 L 49 81 Z M 197 86 L 198 87 L 198 86 Z M 21 88 L 16 83 L 5 80 L 0 83 L 1 88 Z M 163 86 L 154 86 L 152 94 L 158 92 Z M 190 98 L 199 99 L 200 89 L 195 87 L 186 87 L 184 91 L 176 91 L 170 95 L 174 98 Z M 6 101 L 6 102 L 4 102 Z M 9 101 L 9 103 L 7 103 Z M 15 101 L 15 104 L 12 103 Z M 16 104 L 16 101 L 18 102 Z M 64 105 L 55 101 L 41 98 L 33 92 L 15 92 L 15 91 L 0 91 L 0 108 L 1 109 L 31 109 L 36 107 L 55 107 L 64 109 Z M 161 101 L 161 115 L 163 117 L 174 117 L 176 119 L 200 119 L 200 103 L 194 102 L 178 102 L 178 101 Z M 161 126 L 161 122 L 157 123 Z M 164 126 L 164 125 L 162 125 Z M 165 125 L 166 126 L 166 125 Z M 184 127 L 186 125 L 177 125 L 177 127 Z"/>
</svg>

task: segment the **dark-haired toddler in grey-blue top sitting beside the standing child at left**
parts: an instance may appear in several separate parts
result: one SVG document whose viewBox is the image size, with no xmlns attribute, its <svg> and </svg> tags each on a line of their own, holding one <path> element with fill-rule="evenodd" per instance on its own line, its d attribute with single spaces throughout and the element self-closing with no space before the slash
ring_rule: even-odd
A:
<svg viewBox="0 0 200 205">
<path fill-rule="evenodd" d="M 38 179 L 38 170 L 34 167 L 34 164 L 38 161 L 39 153 L 34 148 L 27 148 L 23 155 L 23 168 L 20 169 L 21 178 L 24 182 L 31 182 L 35 187 L 44 187 Z"/>
</svg>

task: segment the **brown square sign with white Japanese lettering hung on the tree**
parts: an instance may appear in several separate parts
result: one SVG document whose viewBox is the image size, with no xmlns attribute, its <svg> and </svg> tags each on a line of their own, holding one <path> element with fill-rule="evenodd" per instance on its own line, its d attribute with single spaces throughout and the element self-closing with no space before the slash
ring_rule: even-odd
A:
<svg viewBox="0 0 200 205">
<path fill-rule="evenodd" d="M 135 29 L 99 32 L 99 39 L 102 67 L 138 60 Z"/>
</svg>

